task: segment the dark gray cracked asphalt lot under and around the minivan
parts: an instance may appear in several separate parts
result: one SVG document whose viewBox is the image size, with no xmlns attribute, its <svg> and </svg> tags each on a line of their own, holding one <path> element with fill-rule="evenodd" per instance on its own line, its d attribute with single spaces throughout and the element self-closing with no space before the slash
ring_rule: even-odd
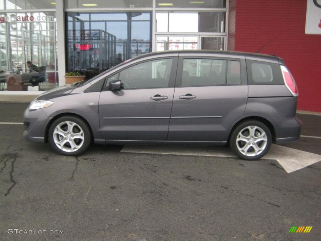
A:
<svg viewBox="0 0 321 241">
<path fill-rule="evenodd" d="M 0 122 L 22 122 L 27 106 L 0 103 Z M 91 145 L 63 157 L 0 124 L 0 240 L 319 240 L 321 116 L 298 116 L 303 137 L 273 147 L 286 165 L 311 162 L 291 171 L 228 147 Z"/>
</svg>

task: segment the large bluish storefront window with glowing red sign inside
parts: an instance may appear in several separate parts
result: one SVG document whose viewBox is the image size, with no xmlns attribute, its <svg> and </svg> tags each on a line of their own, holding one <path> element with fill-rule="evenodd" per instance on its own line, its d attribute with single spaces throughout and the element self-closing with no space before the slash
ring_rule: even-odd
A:
<svg viewBox="0 0 321 241">
<path fill-rule="evenodd" d="M 66 14 L 67 72 L 80 71 L 92 78 L 152 51 L 150 12 Z"/>
</svg>

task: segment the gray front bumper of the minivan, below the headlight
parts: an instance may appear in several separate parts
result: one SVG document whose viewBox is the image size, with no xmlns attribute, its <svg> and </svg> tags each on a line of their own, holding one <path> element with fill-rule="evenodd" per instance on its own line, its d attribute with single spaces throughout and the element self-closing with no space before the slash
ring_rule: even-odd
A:
<svg viewBox="0 0 321 241">
<path fill-rule="evenodd" d="M 26 109 L 23 114 L 25 131 L 23 137 L 28 141 L 45 142 L 46 127 L 51 117 L 45 115 L 42 109 Z"/>
</svg>

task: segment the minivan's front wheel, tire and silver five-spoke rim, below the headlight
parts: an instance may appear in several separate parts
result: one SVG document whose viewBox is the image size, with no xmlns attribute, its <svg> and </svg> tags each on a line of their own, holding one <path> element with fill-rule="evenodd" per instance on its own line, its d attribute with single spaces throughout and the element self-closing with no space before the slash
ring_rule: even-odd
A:
<svg viewBox="0 0 321 241">
<path fill-rule="evenodd" d="M 64 116 L 50 126 L 48 141 L 59 154 L 77 156 L 90 145 L 91 133 L 87 123 L 82 119 Z"/>
</svg>

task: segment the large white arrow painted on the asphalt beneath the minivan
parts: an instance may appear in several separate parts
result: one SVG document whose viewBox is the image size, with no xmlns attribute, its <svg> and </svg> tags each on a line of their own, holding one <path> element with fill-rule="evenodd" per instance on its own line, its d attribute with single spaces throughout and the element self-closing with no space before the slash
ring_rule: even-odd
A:
<svg viewBox="0 0 321 241">
<path fill-rule="evenodd" d="M 163 155 L 237 157 L 229 147 L 219 146 L 125 145 L 121 152 Z M 272 144 L 269 152 L 263 157 L 263 159 L 277 160 L 277 162 L 287 173 L 291 173 L 321 161 L 321 155 Z"/>
</svg>

